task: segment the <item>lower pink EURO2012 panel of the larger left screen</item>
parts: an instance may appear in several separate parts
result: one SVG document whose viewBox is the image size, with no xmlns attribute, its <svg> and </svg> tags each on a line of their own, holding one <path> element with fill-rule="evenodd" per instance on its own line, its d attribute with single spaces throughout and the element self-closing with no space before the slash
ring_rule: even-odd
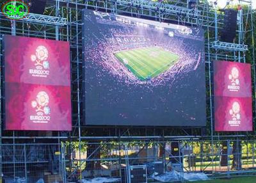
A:
<svg viewBox="0 0 256 183">
<path fill-rule="evenodd" d="M 69 131 L 70 88 L 7 83 L 6 129 Z M 19 91 L 19 92 L 17 92 Z"/>
</svg>

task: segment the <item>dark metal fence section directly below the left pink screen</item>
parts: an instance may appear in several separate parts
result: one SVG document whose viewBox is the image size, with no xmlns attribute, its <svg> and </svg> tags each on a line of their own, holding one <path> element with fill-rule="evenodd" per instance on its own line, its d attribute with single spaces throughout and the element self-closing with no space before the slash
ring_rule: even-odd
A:
<svg viewBox="0 0 256 183">
<path fill-rule="evenodd" d="M 2 144 L 1 152 L 5 182 L 65 180 L 60 144 Z"/>
</svg>

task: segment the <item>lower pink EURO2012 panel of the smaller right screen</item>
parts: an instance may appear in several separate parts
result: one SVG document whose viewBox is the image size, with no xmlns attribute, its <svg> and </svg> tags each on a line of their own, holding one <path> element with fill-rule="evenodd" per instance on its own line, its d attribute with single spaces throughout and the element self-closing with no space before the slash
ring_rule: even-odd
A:
<svg viewBox="0 0 256 183">
<path fill-rule="evenodd" d="M 252 98 L 215 97 L 215 131 L 252 131 Z"/>
</svg>

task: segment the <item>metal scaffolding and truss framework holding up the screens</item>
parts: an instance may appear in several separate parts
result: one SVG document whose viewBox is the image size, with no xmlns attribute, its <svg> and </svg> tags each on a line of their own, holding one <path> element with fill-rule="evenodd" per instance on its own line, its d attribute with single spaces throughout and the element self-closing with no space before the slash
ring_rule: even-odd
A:
<svg viewBox="0 0 256 183">
<path fill-rule="evenodd" d="M 200 1 L 201 2 L 201 1 Z M 20 143 L 56 143 L 58 149 L 62 149 L 61 142 L 68 143 L 65 153 L 72 152 L 74 143 L 78 149 L 80 163 L 70 160 L 72 173 L 68 177 L 72 177 L 76 170 L 81 170 L 82 165 L 86 161 L 97 161 L 93 154 L 97 154 L 97 147 L 92 148 L 92 157 L 82 158 L 82 149 L 88 146 L 88 143 L 94 141 L 100 143 L 101 141 L 161 141 L 159 144 L 165 145 L 168 140 L 199 140 L 208 139 L 211 144 L 211 153 L 214 150 L 214 140 L 218 139 L 237 139 L 248 137 L 248 134 L 232 134 L 223 135 L 214 132 L 213 129 L 213 95 L 212 95 L 212 61 L 213 60 L 228 60 L 246 62 L 250 57 L 252 60 L 252 76 L 253 88 L 256 88 L 255 79 L 255 44 L 253 40 L 253 31 L 255 23 L 253 22 L 252 1 L 242 1 L 246 3 L 244 10 L 239 10 L 239 20 L 237 21 L 237 42 L 226 43 L 220 42 L 219 32 L 223 28 L 223 12 L 218 12 L 214 4 L 200 3 L 198 1 L 196 8 L 191 10 L 188 8 L 186 0 L 170 0 L 168 3 L 163 1 L 152 2 L 147 0 L 53 0 L 47 4 L 47 15 L 38 15 L 29 13 L 22 20 L 6 19 L 0 13 L 0 35 L 12 34 L 20 36 L 32 36 L 38 38 L 47 38 L 54 40 L 67 40 L 70 42 L 71 51 L 71 72 L 72 72 L 72 132 L 5 132 L 0 131 L 0 147 L 1 144 L 11 144 L 10 149 L 15 149 L 14 145 Z M 133 17 L 140 17 L 144 19 L 154 19 L 161 22 L 175 22 L 188 26 L 200 26 L 205 29 L 205 70 L 206 70 L 206 87 L 207 87 L 207 128 L 210 134 L 205 136 L 205 129 L 162 129 L 162 128 L 145 128 L 138 129 L 133 127 L 84 127 L 83 123 L 83 101 L 82 95 L 82 10 L 84 8 L 99 10 L 104 12 L 125 13 Z M 250 24 L 249 24 L 250 22 Z M 252 40 L 246 42 L 245 37 L 250 35 Z M 0 37 L 1 41 L 1 37 Z M 2 43 L 0 42 L 0 56 L 2 58 Z M 248 44 L 248 45 L 246 45 Z M 250 55 L 246 52 L 250 51 Z M 3 66 L 1 65 L 1 70 Z M 3 88 L 3 77 L 1 76 L 1 88 Z M 255 93 L 255 91 L 253 91 Z M 2 96 L 1 96 L 2 97 Z M 3 100 L 1 100 L 3 101 Z M 253 116 L 255 119 L 255 96 L 253 94 Z M 4 111 L 1 110 L 3 117 Z M 1 118 L 0 129 L 3 123 Z M 134 130 L 136 129 L 136 133 Z M 97 132 L 97 133 L 96 133 Z M 95 134 L 102 133 L 101 136 Z M 214 142 L 214 143 L 213 143 Z M 12 147 L 13 145 L 13 147 Z M 100 144 L 102 145 L 102 144 Z M 7 148 L 8 146 L 6 146 Z M 11 148 L 12 147 L 12 148 Z M 23 147 L 22 147 L 23 148 Z M 56 147 L 54 147 L 55 149 Z M 122 147 L 116 147 L 120 151 Z M 13 150 L 15 151 L 15 150 Z M 26 152 L 26 149 L 25 151 Z M 107 159 L 108 160 L 108 159 Z M 111 161 L 109 159 L 109 161 Z M 62 162 L 61 162 L 62 163 Z M 64 162 L 65 163 L 65 162 Z M 213 161 L 212 161 L 213 163 Z M 1 150 L 0 150 L 0 164 L 1 164 Z M 13 163 L 15 164 L 15 163 Z M 202 165 L 202 164 L 201 164 Z M 254 164 L 253 164 L 254 166 Z M 14 169 L 15 170 L 15 169 Z M 1 165 L 0 165 L 1 171 Z M 64 173 L 65 174 L 65 173 Z"/>
</svg>

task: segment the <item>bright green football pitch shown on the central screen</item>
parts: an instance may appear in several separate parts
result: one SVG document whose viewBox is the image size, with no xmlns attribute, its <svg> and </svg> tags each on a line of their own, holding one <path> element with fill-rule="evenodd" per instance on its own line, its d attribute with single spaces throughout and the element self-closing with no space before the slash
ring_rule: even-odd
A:
<svg viewBox="0 0 256 183">
<path fill-rule="evenodd" d="M 143 47 L 114 54 L 141 81 L 158 76 L 179 61 L 177 54 L 160 47 Z"/>
</svg>

